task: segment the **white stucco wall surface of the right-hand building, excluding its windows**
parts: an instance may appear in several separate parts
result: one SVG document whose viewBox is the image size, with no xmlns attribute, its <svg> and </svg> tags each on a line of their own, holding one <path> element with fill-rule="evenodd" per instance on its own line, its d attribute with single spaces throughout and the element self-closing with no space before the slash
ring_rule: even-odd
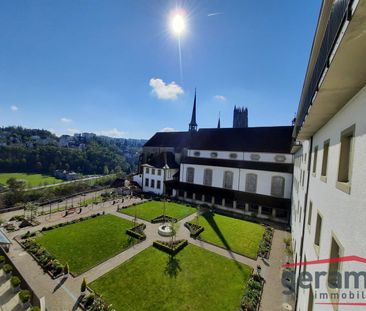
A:
<svg viewBox="0 0 366 311">
<path fill-rule="evenodd" d="M 318 146 L 316 174 L 310 173 L 309 199 L 312 201 L 311 226 L 307 226 L 304 238 L 304 254 L 306 260 L 329 258 L 332 237 L 335 237 L 342 248 L 342 256 L 366 257 L 366 87 L 344 106 L 326 125 L 313 137 L 313 146 Z M 351 167 L 351 191 L 337 189 L 340 156 L 341 132 L 355 125 L 353 145 L 353 161 Z M 330 139 L 327 180 L 320 179 L 323 143 Z M 313 155 L 312 155 L 313 159 Z M 317 212 L 322 216 L 322 230 L 319 252 L 315 251 L 315 225 Z M 307 217 L 305 219 L 307 221 Z M 301 235 L 296 226 L 293 235 L 300 243 Z M 328 265 L 321 267 L 325 271 Z M 360 271 L 355 262 L 341 264 L 341 271 Z M 319 266 L 309 266 L 307 271 L 313 272 Z M 363 266 L 364 270 L 364 266 Z M 342 291 L 341 291 L 342 292 Z M 306 310 L 308 291 L 299 291 L 298 310 Z M 332 306 L 317 305 L 319 311 L 333 311 Z M 339 311 L 349 310 L 347 306 L 339 306 Z"/>
</svg>

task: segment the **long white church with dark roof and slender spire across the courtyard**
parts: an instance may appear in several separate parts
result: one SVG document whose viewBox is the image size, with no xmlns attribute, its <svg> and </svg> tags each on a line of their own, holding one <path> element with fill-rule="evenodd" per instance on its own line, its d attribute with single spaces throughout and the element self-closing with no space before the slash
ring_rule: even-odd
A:
<svg viewBox="0 0 366 311">
<path fill-rule="evenodd" d="M 144 192 L 206 204 L 234 216 L 288 224 L 292 126 L 248 127 L 248 109 L 234 108 L 233 127 L 198 129 L 196 94 L 188 131 L 158 132 L 144 145 Z"/>
</svg>

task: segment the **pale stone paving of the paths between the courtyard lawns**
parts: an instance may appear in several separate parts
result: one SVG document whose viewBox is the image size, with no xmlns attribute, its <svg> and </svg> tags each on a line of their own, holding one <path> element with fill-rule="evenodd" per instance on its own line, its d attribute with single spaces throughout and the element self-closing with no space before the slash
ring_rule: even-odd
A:
<svg viewBox="0 0 366 311">
<path fill-rule="evenodd" d="M 62 217 L 63 212 L 53 214 L 52 217 L 48 215 L 39 216 L 37 219 L 41 222 L 41 224 L 37 227 L 33 227 L 32 231 L 41 229 L 45 224 L 54 225 L 57 223 L 70 221 L 72 219 L 76 219 L 83 216 L 85 217 L 102 211 L 105 211 L 106 213 L 124 219 L 133 220 L 132 216 L 118 213 L 116 209 L 117 206 L 128 206 L 139 201 L 141 200 L 137 198 L 131 198 L 127 200 L 125 199 L 124 203 L 121 203 L 119 200 L 118 203 L 115 205 L 112 205 L 111 202 L 109 203 L 107 202 L 103 205 L 100 203 L 98 205 L 99 207 L 96 207 L 95 205 L 89 206 L 87 208 L 84 208 L 81 214 L 71 214 L 66 217 Z M 262 275 L 266 279 L 266 284 L 264 287 L 260 310 L 263 311 L 282 310 L 282 303 L 284 302 L 291 303 L 291 300 L 289 300 L 288 297 L 285 297 L 282 294 L 283 289 L 281 285 L 281 276 L 280 276 L 281 265 L 285 260 L 283 238 L 288 233 L 284 231 L 275 230 L 270 259 L 268 261 L 263 261 L 262 259 L 253 260 L 245 256 L 233 253 L 230 250 L 212 245 L 210 243 L 198 239 L 192 239 L 189 235 L 189 231 L 184 227 L 184 223 L 186 221 L 192 221 L 195 217 L 196 213 L 191 214 L 178 222 L 178 233 L 176 236 L 177 239 L 187 239 L 188 242 L 191 244 L 215 252 L 221 256 L 227 257 L 237 262 L 246 264 L 252 267 L 253 269 L 256 269 L 257 265 L 261 265 Z M 151 246 L 153 241 L 169 239 L 169 238 L 163 238 L 158 234 L 157 229 L 160 224 L 151 224 L 150 222 L 140 219 L 138 220 L 138 222 L 146 224 L 145 233 L 147 238 L 145 241 L 128 248 L 127 250 L 121 252 L 120 254 L 106 260 L 105 262 L 99 264 L 98 266 L 86 271 L 85 273 L 75 278 L 69 276 L 69 277 L 60 277 L 56 280 L 52 280 L 47 274 L 43 272 L 43 270 L 32 259 L 32 257 L 27 252 L 25 252 L 21 248 L 21 246 L 18 245 L 17 242 L 15 241 L 13 242 L 13 245 L 10 248 L 9 255 L 14 265 L 16 265 L 16 267 L 19 269 L 23 277 L 32 286 L 36 295 L 38 297 L 45 297 L 46 306 L 49 311 L 79 310 L 77 306 L 77 299 L 79 298 L 80 295 L 80 284 L 84 277 L 87 279 L 88 282 L 92 282 L 97 278 L 99 278 L 100 276 L 107 273 L 108 271 L 119 266 L 123 262 L 129 260 L 139 252 Z M 28 230 L 29 228 L 24 228 L 22 230 L 9 234 L 9 236 L 11 238 L 14 238 L 16 235 L 25 233 Z M 15 309 L 9 309 L 9 310 L 15 310 Z"/>
</svg>

